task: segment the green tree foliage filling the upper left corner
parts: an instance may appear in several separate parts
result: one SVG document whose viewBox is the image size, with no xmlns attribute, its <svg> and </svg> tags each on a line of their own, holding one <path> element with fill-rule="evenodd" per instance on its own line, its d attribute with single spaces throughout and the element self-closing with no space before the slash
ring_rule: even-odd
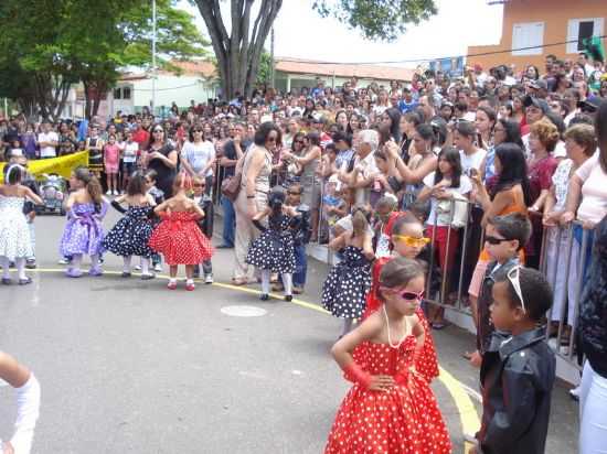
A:
<svg viewBox="0 0 607 454">
<path fill-rule="evenodd" d="M 151 0 L 1 0 L 0 95 L 33 96 L 43 115 L 62 109 L 70 86 L 105 91 L 127 65 L 151 67 Z M 209 44 L 177 0 L 157 0 L 158 66 L 205 56 Z M 14 79 L 14 75 L 19 75 Z M 12 79 L 12 80 L 11 80 Z"/>
</svg>

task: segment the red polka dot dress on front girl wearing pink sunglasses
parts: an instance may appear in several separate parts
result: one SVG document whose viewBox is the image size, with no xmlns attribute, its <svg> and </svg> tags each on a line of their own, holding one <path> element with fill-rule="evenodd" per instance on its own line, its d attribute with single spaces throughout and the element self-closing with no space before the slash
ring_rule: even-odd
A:
<svg viewBox="0 0 607 454">
<path fill-rule="evenodd" d="M 365 342 L 354 360 L 371 375 L 391 375 L 387 392 L 359 383 L 350 389 L 336 417 L 324 454 L 445 454 L 451 442 L 434 392 L 419 374 L 409 372 L 416 339 L 400 347 Z"/>
</svg>

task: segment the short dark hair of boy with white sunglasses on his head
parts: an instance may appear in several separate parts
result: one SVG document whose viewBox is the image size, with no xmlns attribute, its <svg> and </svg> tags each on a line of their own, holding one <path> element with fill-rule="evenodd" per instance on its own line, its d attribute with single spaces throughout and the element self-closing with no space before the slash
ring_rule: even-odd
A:
<svg viewBox="0 0 607 454">
<path fill-rule="evenodd" d="M 521 300 L 508 278 L 508 272 L 498 273 L 496 282 L 508 283 L 510 301 L 515 303 L 514 306 L 521 306 Z M 530 320 L 540 322 L 546 315 L 546 312 L 552 307 L 554 294 L 552 288 L 540 271 L 532 268 L 519 267 L 519 282 L 521 284 L 521 293 L 524 300 L 524 307 Z"/>
</svg>

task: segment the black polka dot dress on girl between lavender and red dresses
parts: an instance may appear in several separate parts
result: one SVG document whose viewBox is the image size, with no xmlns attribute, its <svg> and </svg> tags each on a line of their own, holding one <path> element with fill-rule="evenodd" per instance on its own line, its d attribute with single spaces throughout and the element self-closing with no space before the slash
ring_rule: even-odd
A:
<svg viewBox="0 0 607 454">
<path fill-rule="evenodd" d="M 104 250 L 120 257 L 151 257 L 152 249 L 148 241 L 153 231 L 152 221 L 148 218 L 149 206 L 130 206 L 120 220 L 104 238 Z"/>
</svg>

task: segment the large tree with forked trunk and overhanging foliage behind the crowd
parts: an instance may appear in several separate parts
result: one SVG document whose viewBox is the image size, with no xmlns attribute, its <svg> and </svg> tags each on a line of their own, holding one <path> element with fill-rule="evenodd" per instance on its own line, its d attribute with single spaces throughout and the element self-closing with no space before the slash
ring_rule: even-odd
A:
<svg viewBox="0 0 607 454">
<path fill-rule="evenodd" d="M 224 23 L 220 0 L 193 1 L 206 24 L 217 58 L 224 97 L 237 93 L 249 96 L 259 71 L 262 51 L 283 0 L 259 0 L 251 29 L 256 0 L 230 0 L 230 34 Z M 436 13 L 434 0 L 313 0 L 320 15 L 332 15 L 366 39 L 392 41 L 406 24 L 418 23 Z"/>
</svg>

